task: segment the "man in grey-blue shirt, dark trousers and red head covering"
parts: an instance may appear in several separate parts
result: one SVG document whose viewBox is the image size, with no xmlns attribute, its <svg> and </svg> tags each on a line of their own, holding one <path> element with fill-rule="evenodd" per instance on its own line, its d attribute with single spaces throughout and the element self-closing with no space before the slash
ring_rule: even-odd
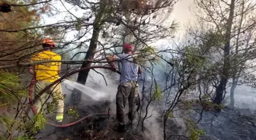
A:
<svg viewBox="0 0 256 140">
<path fill-rule="evenodd" d="M 120 70 L 120 84 L 117 89 L 116 105 L 117 105 L 117 120 L 118 131 L 126 131 L 124 109 L 126 100 L 129 102 L 129 114 L 128 118 L 130 123 L 133 122 L 136 113 L 136 105 L 138 105 L 139 93 L 138 93 L 138 76 L 142 73 L 141 68 L 135 63 L 133 58 L 133 45 L 127 43 L 123 45 L 124 54 L 116 54 L 107 56 L 107 61 L 121 61 L 122 69 Z M 113 62 L 110 65 L 114 67 Z M 115 67 L 114 67 L 115 68 Z"/>
</svg>

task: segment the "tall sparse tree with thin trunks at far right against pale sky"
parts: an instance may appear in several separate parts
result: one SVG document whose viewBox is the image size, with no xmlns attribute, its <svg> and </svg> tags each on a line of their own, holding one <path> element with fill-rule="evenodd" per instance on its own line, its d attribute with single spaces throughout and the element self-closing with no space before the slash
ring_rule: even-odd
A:
<svg viewBox="0 0 256 140">
<path fill-rule="evenodd" d="M 234 105 L 234 90 L 242 73 L 251 66 L 248 61 L 254 59 L 248 53 L 254 52 L 250 44 L 254 41 L 252 32 L 255 30 L 254 2 L 242 1 L 196 1 L 195 14 L 200 23 L 207 26 L 213 33 L 221 38 L 218 49 L 214 53 L 220 57 L 219 86 L 216 87 L 215 102 L 220 104 L 226 91 L 226 82 L 232 78 L 231 104 Z M 249 22 L 247 22 L 249 21 Z M 197 34 L 197 33 L 195 33 Z M 194 34 L 194 35 L 195 35 Z M 202 38 L 203 39 L 203 38 Z"/>
</svg>

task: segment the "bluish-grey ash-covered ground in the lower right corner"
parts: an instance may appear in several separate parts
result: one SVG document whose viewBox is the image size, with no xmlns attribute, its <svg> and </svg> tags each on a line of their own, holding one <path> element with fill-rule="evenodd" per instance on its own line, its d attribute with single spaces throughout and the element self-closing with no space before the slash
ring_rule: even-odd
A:
<svg viewBox="0 0 256 140">
<path fill-rule="evenodd" d="M 200 112 L 192 116 L 200 120 Z M 202 139 L 254 140 L 256 139 L 256 112 L 226 107 L 219 114 L 204 112 L 198 123 L 206 132 Z"/>
</svg>

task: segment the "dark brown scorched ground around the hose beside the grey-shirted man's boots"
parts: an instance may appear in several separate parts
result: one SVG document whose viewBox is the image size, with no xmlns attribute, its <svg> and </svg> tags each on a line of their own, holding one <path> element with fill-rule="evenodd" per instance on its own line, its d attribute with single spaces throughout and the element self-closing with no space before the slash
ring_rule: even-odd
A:
<svg viewBox="0 0 256 140">
<path fill-rule="evenodd" d="M 75 120 L 79 120 L 89 114 L 108 113 L 109 106 L 106 102 L 98 102 L 95 104 L 97 105 L 92 104 L 91 106 L 83 106 L 82 104 L 79 104 L 75 108 L 79 117 L 74 118 L 66 115 L 63 123 L 66 124 L 74 122 Z M 142 139 L 142 136 L 136 134 L 135 131 L 132 132 L 131 126 L 127 127 L 126 133 L 117 132 L 117 120 L 115 120 L 115 114 L 104 114 L 89 117 L 80 123 L 64 128 L 55 128 L 53 126 L 46 125 L 45 129 L 36 135 L 36 138 L 43 140 L 120 140 L 122 138 L 127 140 L 139 140 Z"/>
</svg>

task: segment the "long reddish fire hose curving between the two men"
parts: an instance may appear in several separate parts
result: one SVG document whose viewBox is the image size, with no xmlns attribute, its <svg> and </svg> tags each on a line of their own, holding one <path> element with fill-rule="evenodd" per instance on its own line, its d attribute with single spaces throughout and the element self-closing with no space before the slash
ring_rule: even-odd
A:
<svg viewBox="0 0 256 140">
<path fill-rule="evenodd" d="M 62 76 L 61 78 L 57 79 L 55 82 L 53 82 L 52 84 L 50 84 L 49 86 L 46 86 L 45 89 L 43 89 L 35 98 L 34 98 L 34 101 L 33 101 L 33 89 L 34 89 L 34 85 L 36 83 L 36 78 L 35 76 L 33 76 L 33 78 L 31 79 L 30 81 L 30 86 L 29 86 L 29 103 L 30 103 L 30 107 L 31 107 L 31 110 L 33 111 L 34 115 L 37 115 L 37 110 L 36 108 L 34 107 L 34 102 L 37 101 L 38 98 L 40 98 L 40 95 L 43 94 L 43 92 L 46 92 L 46 89 L 49 89 L 51 86 L 55 85 L 57 82 L 60 82 L 62 79 L 65 79 L 66 77 L 68 76 L 71 76 L 72 74 L 75 74 L 75 73 L 78 73 L 79 71 L 82 71 L 82 70 L 88 70 L 88 69 L 94 69 L 94 68 L 104 68 L 104 69 L 108 69 L 108 70 L 113 70 L 112 67 L 104 67 L 104 66 L 92 66 L 92 67 L 85 67 L 85 68 L 82 68 L 80 70 L 75 70 L 71 73 L 68 73 L 66 74 L 65 76 Z M 117 70 L 113 70 L 117 73 L 120 73 L 119 71 Z M 138 107 L 139 108 L 139 107 Z M 28 111 L 27 111 L 28 112 Z M 114 114 L 109 114 L 108 112 L 104 112 L 104 113 L 98 113 L 98 114 L 89 114 L 85 117 L 82 117 L 81 119 L 79 120 L 76 120 L 75 122 L 72 122 L 72 123 L 67 123 L 67 124 L 63 124 L 63 125 L 56 125 L 56 124 L 53 124 L 53 123 L 50 123 L 48 122 L 48 124 L 50 126 L 55 126 L 55 127 L 69 127 L 69 126 L 73 126 L 77 123 L 80 123 L 82 122 L 83 120 L 87 119 L 88 117 L 92 117 L 92 116 L 95 116 L 95 115 L 114 115 Z"/>
</svg>

